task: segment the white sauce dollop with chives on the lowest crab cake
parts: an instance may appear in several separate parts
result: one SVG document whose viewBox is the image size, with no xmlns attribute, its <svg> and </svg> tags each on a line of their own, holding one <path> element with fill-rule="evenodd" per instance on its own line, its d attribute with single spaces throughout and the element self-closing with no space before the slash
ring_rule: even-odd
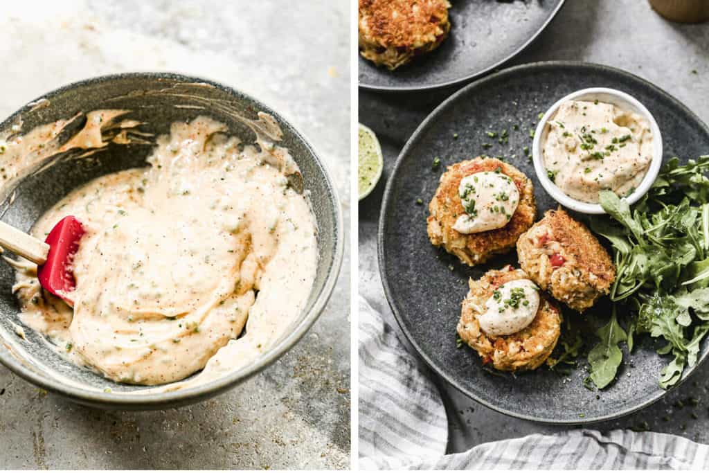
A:
<svg viewBox="0 0 709 473">
<path fill-rule="evenodd" d="M 498 287 L 479 316 L 481 330 L 488 335 L 510 335 L 532 323 L 539 310 L 539 289 L 529 279 L 515 279 Z"/>
</svg>

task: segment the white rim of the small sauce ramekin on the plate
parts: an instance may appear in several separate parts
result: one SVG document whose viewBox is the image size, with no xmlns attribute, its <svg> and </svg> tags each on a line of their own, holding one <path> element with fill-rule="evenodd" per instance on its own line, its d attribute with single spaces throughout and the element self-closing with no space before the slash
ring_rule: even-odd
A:
<svg viewBox="0 0 709 473">
<path fill-rule="evenodd" d="M 534 164 L 535 172 L 537 173 L 537 179 L 539 179 L 544 190 L 547 194 L 552 196 L 555 201 L 562 204 L 562 206 L 571 208 L 571 210 L 588 213 L 591 215 L 601 215 L 605 213 L 601 204 L 591 204 L 590 202 L 579 201 L 571 196 L 564 194 L 562 189 L 559 189 L 556 184 L 549 179 L 547 175 L 547 169 L 544 165 L 542 158 L 542 137 L 547 131 L 547 123 L 552 119 L 559 107 L 564 104 L 564 102 L 574 99 L 584 99 L 584 98 L 596 98 L 598 96 L 612 96 L 618 102 L 625 103 L 633 108 L 634 111 L 640 113 L 649 123 L 650 130 L 652 131 L 652 161 L 650 162 L 647 172 L 645 173 L 640 185 L 635 189 L 635 191 L 630 194 L 630 196 L 625 196 L 623 199 L 627 201 L 628 204 L 632 205 L 639 201 L 642 196 L 647 194 L 647 191 L 652 186 L 652 183 L 657 179 L 657 175 L 662 167 L 662 134 L 657 121 L 655 120 L 652 113 L 645 107 L 642 102 L 635 99 L 634 96 L 627 94 L 627 92 L 620 91 L 618 89 L 611 89 L 610 87 L 588 87 L 586 89 L 579 89 L 577 91 L 571 92 L 561 99 L 554 102 L 552 106 L 546 111 L 544 116 L 540 118 L 539 123 L 537 123 L 537 128 L 535 129 L 534 140 L 532 142 L 532 162 Z"/>
</svg>

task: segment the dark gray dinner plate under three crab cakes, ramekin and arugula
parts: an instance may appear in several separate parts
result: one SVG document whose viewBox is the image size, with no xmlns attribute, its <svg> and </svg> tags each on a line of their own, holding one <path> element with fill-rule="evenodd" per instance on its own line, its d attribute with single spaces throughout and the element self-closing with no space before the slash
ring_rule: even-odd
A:
<svg viewBox="0 0 709 473">
<path fill-rule="evenodd" d="M 539 184 L 523 147 L 531 146 L 530 129 L 537 114 L 562 96 L 586 87 L 612 87 L 640 100 L 657 119 L 664 143 L 664 159 L 697 157 L 709 152 L 709 128 L 686 106 L 649 82 L 619 69 L 578 62 L 540 62 L 522 65 L 481 79 L 452 95 L 413 133 L 399 155 L 387 182 L 379 221 L 379 267 L 384 291 L 403 333 L 432 369 L 472 399 L 510 416 L 532 421 L 581 424 L 608 420 L 636 411 L 660 399 L 659 372 L 669 362 L 657 355 L 647 336 L 637 338 L 618 378 L 602 391 L 584 387 L 584 366 L 569 374 L 542 367 L 534 372 L 503 374 L 488 371 L 469 347 L 456 346 L 460 304 L 469 277 L 511 263 L 516 254 L 497 257 L 471 268 L 433 247 L 426 235 L 428 202 L 445 165 L 477 155 L 504 156 L 535 184 L 537 218 L 557 203 Z M 513 130 L 517 125 L 518 130 Z M 509 130 L 501 145 L 487 131 Z M 455 138 L 457 137 L 457 138 Z M 493 144 L 494 143 L 494 144 Z M 484 148 L 485 144 L 493 144 Z M 514 156 L 514 157 L 513 157 Z M 442 166 L 431 162 L 440 157 Z M 423 205 L 417 204 L 423 200 Z M 608 301 L 583 316 L 565 311 L 580 325 L 586 340 L 595 343 L 593 330 L 608 321 Z M 562 335 L 563 336 L 563 335 Z M 703 343 L 700 361 L 709 353 Z M 698 364 L 699 364 L 698 363 Z M 685 369 L 686 379 L 693 369 Z"/>
</svg>

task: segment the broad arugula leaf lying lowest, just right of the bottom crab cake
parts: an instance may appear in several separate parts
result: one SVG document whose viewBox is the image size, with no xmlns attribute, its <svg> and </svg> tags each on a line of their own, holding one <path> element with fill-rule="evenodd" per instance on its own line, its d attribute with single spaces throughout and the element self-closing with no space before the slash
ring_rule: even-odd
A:
<svg viewBox="0 0 709 473">
<path fill-rule="evenodd" d="M 618 343 L 627 340 L 625 330 L 615 315 L 615 306 L 610 321 L 599 328 L 596 335 L 601 341 L 588 352 L 588 363 L 591 365 L 591 381 L 598 389 L 603 389 L 615 379 L 615 373 L 623 361 L 623 352 Z"/>
</svg>

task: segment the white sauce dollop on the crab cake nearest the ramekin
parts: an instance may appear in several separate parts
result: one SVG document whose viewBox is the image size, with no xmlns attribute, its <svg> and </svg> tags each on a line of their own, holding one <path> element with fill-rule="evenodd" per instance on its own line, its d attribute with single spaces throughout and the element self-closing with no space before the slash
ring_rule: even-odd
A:
<svg viewBox="0 0 709 473">
<path fill-rule="evenodd" d="M 476 172 L 460 180 L 458 196 L 465 213 L 453 229 L 459 233 L 479 233 L 503 228 L 520 201 L 520 191 L 501 172 Z"/>
</svg>

